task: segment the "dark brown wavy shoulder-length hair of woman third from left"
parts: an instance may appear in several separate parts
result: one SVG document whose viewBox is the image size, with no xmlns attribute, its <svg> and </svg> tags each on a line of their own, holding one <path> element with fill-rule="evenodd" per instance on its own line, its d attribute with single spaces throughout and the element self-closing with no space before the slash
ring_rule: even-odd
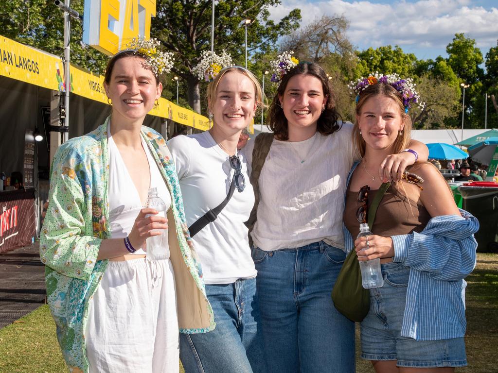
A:
<svg viewBox="0 0 498 373">
<path fill-rule="evenodd" d="M 320 65 L 314 62 L 301 62 L 297 66 L 290 69 L 287 74 L 285 74 L 278 86 L 277 93 L 273 97 L 270 109 L 268 112 L 268 127 L 275 133 L 275 138 L 278 140 L 288 140 L 289 139 L 289 128 L 287 124 L 287 118 L 280 106 L 280 100 L 278 96 L 283 96 L 285 89 L 287 88 L 287 83 L 289 80 L 299 74 L 310 75 L 312 77 L 318 78 L 322 82 L 323 94 L 327 97 L 325 102 L 325 109 L 318 118 L 317 131 L 322 135 L 330 135 L 338 131 L 341 126 L 338 120 L 341 119 L 341 115 L 336 110 L 336 97 L 332 91 L 329 79 L 325 74 L 325 71 L 320 67 Z"/>
</svg>

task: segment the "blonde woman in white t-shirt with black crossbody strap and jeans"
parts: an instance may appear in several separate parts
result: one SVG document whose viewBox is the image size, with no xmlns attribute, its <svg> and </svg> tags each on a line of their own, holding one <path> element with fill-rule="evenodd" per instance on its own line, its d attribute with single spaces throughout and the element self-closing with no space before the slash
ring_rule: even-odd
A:
<svg viewBox="0 0 498 373">
<path fill-rule="evenodd" d="M 266 373 L 256 297 L 256 270 L 244 222 L 254 204 L 247 164 L 237 151 L 241 132 L 262 104 L 257 79 L 241 67 L 222 70 L 208 86 L 213 127 L 168 142 L 191 226 L 236 190 L 216 220 L 192 238 L 202 263 L 216 329 L 180 337 L 186 373 Z"/>
</svg>

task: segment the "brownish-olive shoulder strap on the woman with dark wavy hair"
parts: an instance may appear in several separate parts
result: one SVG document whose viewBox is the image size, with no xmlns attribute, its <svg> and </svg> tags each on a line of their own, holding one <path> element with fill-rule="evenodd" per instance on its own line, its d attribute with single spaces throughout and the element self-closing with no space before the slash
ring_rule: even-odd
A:
<svg viewBox="0 0 498 373">
<path fill-rule="evenodd" d="M 254 189 L 254 206 L 249 215 L 249 220 L 246 221 L 246 226 L 249 228 L 249 244 L 252 246 L 250 232 L 256 222 L 257 206 L 259 204 L 259 175 L 263 169 L 264 161 L 270 151 L 271 143 L 273 142 L 273 133 L 260 133 L 254 139 L 254 148 L 252 149 L 251 173 L 249 177 L 252 189 Z"/>
</svg>

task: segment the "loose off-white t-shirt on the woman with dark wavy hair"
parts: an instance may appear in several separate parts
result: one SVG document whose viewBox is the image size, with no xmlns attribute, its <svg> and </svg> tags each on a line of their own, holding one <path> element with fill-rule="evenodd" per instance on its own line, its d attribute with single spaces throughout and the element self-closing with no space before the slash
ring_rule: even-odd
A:
<svg viewBox="0 0 498 373">
<path fill-rule="evenodd" d="M 324 240 L 344 249 L 346 181 L 356 158 L 353 124 L 304 141 L 273 140 L 259 176 L 257 221 L 251 232 L 261 250 L 297 248 Z M 243 149 L 249 165 L 254 140 Z M 250 166 L 249 166 L 250 167 Z"/>
</svg>

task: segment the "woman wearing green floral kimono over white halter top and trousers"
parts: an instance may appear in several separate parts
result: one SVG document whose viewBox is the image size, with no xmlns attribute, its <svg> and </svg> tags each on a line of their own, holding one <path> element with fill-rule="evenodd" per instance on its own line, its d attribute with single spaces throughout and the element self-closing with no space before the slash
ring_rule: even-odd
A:
<svg viewBox="0 0 498 373">
<path fill-rule="evenodd" d="M 164 139 L 142 127 L 162 90 L 153 67 L 136 50 L 116 54 L 104 81 L 111 116 L 54 158 L 40 257 L 74 372 L 178 372 L 179 324 L 191 332 L 214 327 L 174 165 Z M 151 186 L 167 218 L 143 208 Z M 149 260 L 145 240 L 163 233 L 163 259 Z"/>
</svg>

